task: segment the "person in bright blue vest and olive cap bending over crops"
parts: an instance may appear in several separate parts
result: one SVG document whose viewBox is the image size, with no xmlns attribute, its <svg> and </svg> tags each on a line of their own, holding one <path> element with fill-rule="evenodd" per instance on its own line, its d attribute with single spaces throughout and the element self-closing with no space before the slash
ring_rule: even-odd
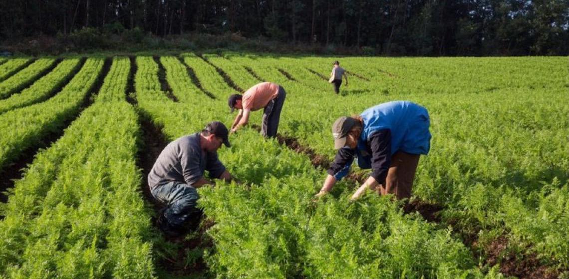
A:
<svg viewBox="0 0 569 279">
<path fill-rule="evenodd" d="M 427 109 L 406 101 L 382 103 L 359 116 L 336 119 L 332 135 L 338 152 L 316 197 L 347 176 L 354 158 L 360 168 L 371 168 L 372 173 L 352 201 L 367 188 L 381 195 L 395 194 L 398 199 L 410 197 L 420 154 L 430 148 L 429 124 Z"/>
</svg>

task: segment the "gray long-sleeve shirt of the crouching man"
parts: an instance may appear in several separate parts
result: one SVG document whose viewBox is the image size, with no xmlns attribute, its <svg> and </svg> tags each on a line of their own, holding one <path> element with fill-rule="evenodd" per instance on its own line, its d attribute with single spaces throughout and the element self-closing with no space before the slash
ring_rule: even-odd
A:
<svg viewBox="0 0 569 279">
<path fill-rule="evenodd" d="M 219 178 L 225 166 L 217 152 L 206 152 L 200 148 L 200 134 L 183 136 L 166 145 L 148 174 L 150 187 L 172 181 L 192 185 L 208 170 L 211 177 Z"/>
</svg>

